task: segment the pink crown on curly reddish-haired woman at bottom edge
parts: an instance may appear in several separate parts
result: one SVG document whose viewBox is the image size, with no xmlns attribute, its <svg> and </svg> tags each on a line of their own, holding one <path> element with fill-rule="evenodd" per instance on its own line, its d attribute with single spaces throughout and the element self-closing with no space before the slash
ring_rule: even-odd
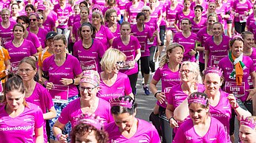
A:
<svg viewBox="0 0 256 143">
<path fill-rule="evenodd" d="M 80 116 L 76 117 L 76 125 L 79 125 L 81 123 L 85 123 L 88 125 L 93 125 L 95 128 L 101 130 L 103 126 L 103 119 L 99 116 L 96 116 L 95 114 L 89 115 L 88 113 L 82 114 Z"/>
</svg>

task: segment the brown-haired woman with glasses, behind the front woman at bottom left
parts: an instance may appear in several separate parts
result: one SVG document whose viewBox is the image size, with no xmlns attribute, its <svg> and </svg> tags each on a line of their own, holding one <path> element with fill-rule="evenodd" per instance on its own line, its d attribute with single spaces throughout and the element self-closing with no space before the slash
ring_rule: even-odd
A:
<svg viewBox="0 0 256 143">
<path fill-rule="evenodd" d="M 41 84 L 36 83 L 34 76 L 36 75 L 36 61 L 31 57 L 24 57 L 19 62 L 19 75 L 22 77 L 24 83 L 25 94 L 24 97 L 27 102 L 38 105 L 42 109 L 45 123 L 44 140 L 47 142 L 46 133 L 46 119 L 52 119 L 56 116 L 56 110 L 53 106 L 53 100 L 49 91 Z"/>
</svg>

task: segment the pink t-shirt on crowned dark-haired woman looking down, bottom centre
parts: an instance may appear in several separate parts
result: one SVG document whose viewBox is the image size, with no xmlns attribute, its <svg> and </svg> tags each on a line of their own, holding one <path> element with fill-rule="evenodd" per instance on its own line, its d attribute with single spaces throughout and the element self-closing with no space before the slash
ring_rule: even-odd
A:
<svg viewBox="0 0 256 143">
<path fill-rule="evenodd" d="M 136 118 L 137 119 L 137 118 Z M 108 133 L 109 143 L 111 142 L 150 142 L 150 143 L 160 143 L 160 137 L 157 133 L 157 129 L 151 123 L 144 121 L 142 119 L 137 119 L 137 131 L 134 136 L 127 139 L 119 131 L 118 126 L 115 122 L 111 122 L 105 126 L 105 131 Z"/>
</svg>

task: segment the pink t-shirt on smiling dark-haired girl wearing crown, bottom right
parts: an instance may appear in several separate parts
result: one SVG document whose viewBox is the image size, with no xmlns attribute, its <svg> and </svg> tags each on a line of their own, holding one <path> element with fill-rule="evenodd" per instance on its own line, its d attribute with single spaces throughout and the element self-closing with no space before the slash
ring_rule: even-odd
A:
<svg viewBox="0 0 256 143">
<path fill-rule="evenodd" d="M 209 130 L 204 136 L 199 136 L 194 130 L 192 119 L 188 119 L 183 125 L 180 126 L 179 130 L 175 134 L 173 143 L 194 143 L 194 142 L 205 142 L 205 143 L 220 143 L 227 142 L 226 130 L 223 124 L 217 119 L 211 118 L 211 125 Z"/>
</svg>

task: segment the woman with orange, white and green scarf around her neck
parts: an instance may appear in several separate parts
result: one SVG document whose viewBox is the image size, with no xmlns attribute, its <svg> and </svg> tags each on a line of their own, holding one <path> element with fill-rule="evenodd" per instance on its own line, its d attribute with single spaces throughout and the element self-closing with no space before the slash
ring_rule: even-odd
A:
<svg viewBox="0 0 256 143">
<path fill-rule="evenodd" d="M 255 66 L 250 57 L 243 55 L 243 38 L 234 36 L 229 41 L 229 55 L 220 60 L 219 66 L 223 70 L 224 87 L 223 91 L 234 94 L 237 99 L 243 102 L 247 110 L 252 114 L 252 97 L 256 93 Z M 251 76 L 253 88 L 249 86 L 249 76 Z M 234 141 L 234 111 L 230 119 L 230 132 Z"/>
</svg>

